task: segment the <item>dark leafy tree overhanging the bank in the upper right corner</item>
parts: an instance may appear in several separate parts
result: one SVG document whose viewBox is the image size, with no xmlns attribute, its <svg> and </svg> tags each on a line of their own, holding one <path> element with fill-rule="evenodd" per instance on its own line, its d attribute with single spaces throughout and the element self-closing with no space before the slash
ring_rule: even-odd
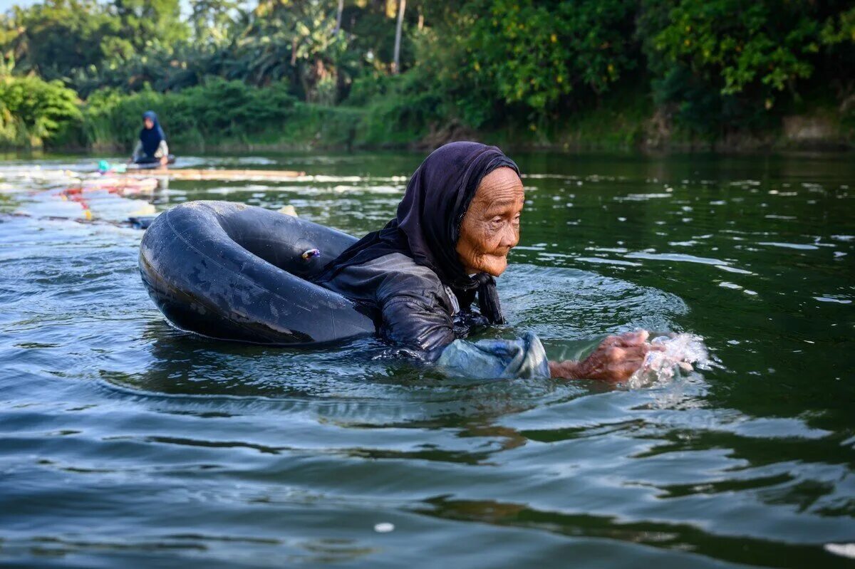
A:
<svg viewBox="0 0 855 569">
<path fill-rule="evenodd" d="M 836 18 L 845 7 L 833 0 L 645 0 L 639 35 L 657 106 L 711 138 L 768 127 L 775 110 L 798 96 L 799 82 L 813 76 L 823 21 L 845 22 Z"/>
</svg>

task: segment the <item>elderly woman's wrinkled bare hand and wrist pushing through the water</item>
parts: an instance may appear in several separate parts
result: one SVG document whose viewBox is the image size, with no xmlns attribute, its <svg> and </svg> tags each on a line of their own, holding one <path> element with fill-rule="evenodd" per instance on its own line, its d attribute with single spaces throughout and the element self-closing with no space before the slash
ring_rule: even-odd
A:
<svg viewBox="0 0 855 569">
<path fill-rule="evenodd" d="M 553 378 L 626 381 L 644 364 L 647 352 L 664 349 L 647 343 L 649 336 L 640 330 L 607 337 L 584 360 L 550 361 L 549 371 Z"/>
</svg>

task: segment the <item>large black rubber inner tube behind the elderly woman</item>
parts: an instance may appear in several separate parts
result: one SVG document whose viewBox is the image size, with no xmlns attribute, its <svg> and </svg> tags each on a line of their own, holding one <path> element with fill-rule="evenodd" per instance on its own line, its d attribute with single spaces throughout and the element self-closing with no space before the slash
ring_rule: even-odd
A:
<svg viewBox="0 0 855 569">
<path fill-rule="evenodd" d="M 355 242 L 265 208 L 188 202 L 145 231 L 139 270 L 157 308 L 182 330 L 275 345 L 333 343 L 376 330 L 372 308 L 311 282 Z M 304 255 L 311 249 L 320 255 Z"/>
</svg>

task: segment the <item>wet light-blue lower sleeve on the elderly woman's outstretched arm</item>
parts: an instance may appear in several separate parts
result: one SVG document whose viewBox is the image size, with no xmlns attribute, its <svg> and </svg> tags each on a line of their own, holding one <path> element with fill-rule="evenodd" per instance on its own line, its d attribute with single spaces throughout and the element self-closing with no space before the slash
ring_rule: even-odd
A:
<svg viewBox="0 0 855 569">
<path fill-rule="evenodd" d="M 545 349 L 533 332 L 516 340 L 455 340 L 442 350 L 436 363 L 466 378 L 550 377 Z"/>
</svg>

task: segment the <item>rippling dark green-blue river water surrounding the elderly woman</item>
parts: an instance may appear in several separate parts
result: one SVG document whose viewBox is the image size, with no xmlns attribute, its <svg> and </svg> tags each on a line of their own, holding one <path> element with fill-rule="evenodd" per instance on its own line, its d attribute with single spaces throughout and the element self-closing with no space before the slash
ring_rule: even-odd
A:
<svg viewBox="0 0 855 569">
<path fill-rule="evenodd" d="M 139 203 L 290 204 L 362 235 L 422 157 L 188 158 L 306 175 Z M 852 566 L 852 155 L 515 158 L 527 205 L 499 279 L 510 326 L 491 333 L 535 331 L 562 358 L 616 331 L 692 332 L 711 369 L 634 389 L 473 382 L 375 340 L 190 337 L 143 288 L 142 232 L 57 194 L 58 170 L 96 158 L 7 157 L 0 561 Z"/>
</svg>

